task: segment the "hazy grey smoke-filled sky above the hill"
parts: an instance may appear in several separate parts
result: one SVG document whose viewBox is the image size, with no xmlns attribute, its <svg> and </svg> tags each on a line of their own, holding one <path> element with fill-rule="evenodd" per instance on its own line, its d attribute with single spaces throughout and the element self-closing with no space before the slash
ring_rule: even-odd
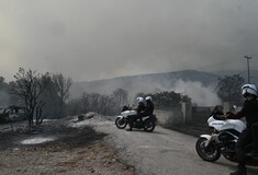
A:
<svg viewBox="0 0 258 175">
<path fill-rule="evenodd" d="M 0 0 L 0 75 L 258 70 L 257 0 Z"/>
</svg>

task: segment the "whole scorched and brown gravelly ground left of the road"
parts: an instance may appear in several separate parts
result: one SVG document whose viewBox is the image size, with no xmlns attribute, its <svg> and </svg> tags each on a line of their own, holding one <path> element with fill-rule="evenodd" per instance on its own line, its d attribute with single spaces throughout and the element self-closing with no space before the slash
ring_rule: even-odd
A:
<svg viewBox="0 0 258 175">
<path fill-rule="evenodd" d="M 0 174 L 135 174 L 104 143 L 105 136 L 90 127 L 67 128 L 56 124 L 43 125 L 33 135 L 26 129 L 0 131 Z M 34 144 L 44 139 L 46 142 Z"/>
</svg>

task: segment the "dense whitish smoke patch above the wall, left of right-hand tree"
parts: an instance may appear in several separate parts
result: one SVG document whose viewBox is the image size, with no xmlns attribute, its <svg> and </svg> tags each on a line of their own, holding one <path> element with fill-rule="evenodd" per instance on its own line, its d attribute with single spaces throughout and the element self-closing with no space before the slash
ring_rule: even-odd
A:
<svg viewBox="0 0 258 175">
<path fill-rule="evenodd" d="M 178 80 L 173 89 L 176 92 L 191 97 L 193 105 L 214 106 L 222 103 L 214 86 L 204 86 L 201 82 Z"/>
</svg>

